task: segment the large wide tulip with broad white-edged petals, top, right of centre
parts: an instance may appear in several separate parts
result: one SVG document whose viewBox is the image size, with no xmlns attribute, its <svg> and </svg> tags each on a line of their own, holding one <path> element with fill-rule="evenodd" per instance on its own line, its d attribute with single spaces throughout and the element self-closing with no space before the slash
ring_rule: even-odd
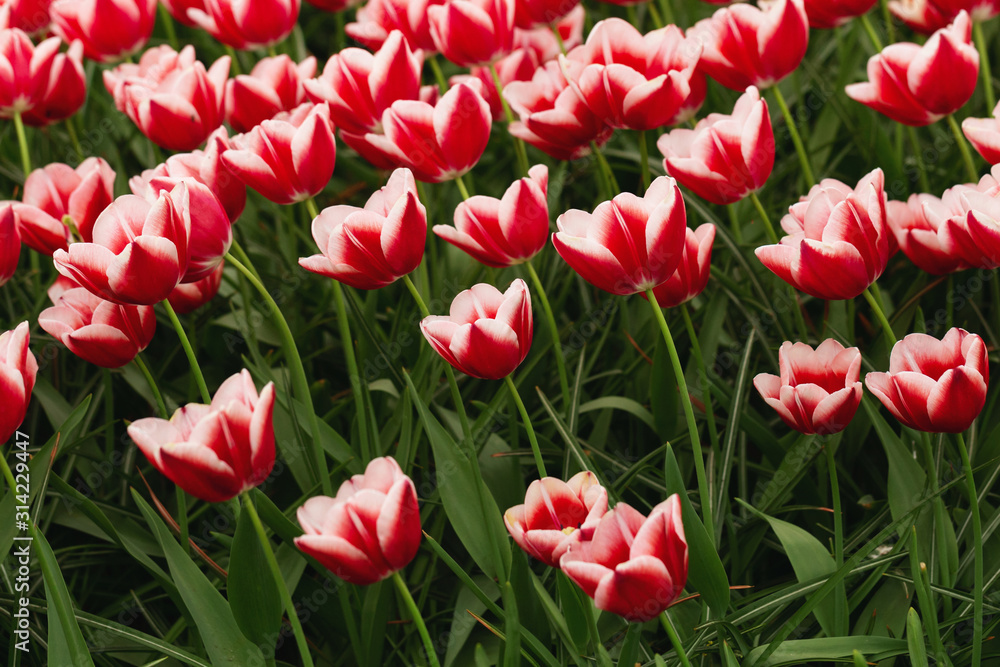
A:
<svg viewBox="0 0 1000 667">
<path fill-rule="evenodd" d="M 677 26 L 643 35 L 617 18 L 597 23 L 583 46 L 561 61 L 575 61 L 570 85 L 611 127 L 652 130 L 677 122 L 691 95 L 701 45 Z"/>
</svg>

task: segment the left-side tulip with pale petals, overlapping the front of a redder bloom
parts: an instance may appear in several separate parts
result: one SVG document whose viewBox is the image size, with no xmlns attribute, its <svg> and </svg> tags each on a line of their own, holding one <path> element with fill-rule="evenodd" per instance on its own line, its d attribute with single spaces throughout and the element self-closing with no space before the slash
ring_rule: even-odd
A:
<svg viewBox="0 0 1000 667">
<path fill-rule="evenodd" d="M 97 218 L 92 243 L 73 243 L 52 259 L 59 273 L 102 299 L 151 306 L 167 298 L 187 270 L 189 221 L 170 193 L 153 204 L 125 195 Z"/>
</svg>

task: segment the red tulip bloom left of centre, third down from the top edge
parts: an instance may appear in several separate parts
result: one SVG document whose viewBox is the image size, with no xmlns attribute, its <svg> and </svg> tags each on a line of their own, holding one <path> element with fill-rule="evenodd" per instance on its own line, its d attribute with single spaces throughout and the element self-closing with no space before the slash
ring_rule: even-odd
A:
<svg viewBox="0 0 1000 667">
<path fill-rule="evenodd" d="M 222 163 L 277 204 L 305 201 L 333 176 L 337 147 L 326 104 L 303 104 L 230 141 Z"/>
</svg>

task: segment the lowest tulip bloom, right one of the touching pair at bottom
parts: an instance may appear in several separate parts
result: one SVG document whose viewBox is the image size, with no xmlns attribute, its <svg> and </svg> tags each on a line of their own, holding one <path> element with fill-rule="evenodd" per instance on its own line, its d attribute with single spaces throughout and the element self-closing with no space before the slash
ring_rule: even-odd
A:
<svg viewBox="0 0 1000 667">
<path fill-rule="evenodd" d="M 667 498 L 649 517 L 618 503 L 593 539 L 572 544 L 559 566 L 598 609 L 633 622 L 656 618 L 687 582 L 680 496 Z"/>
</svg>

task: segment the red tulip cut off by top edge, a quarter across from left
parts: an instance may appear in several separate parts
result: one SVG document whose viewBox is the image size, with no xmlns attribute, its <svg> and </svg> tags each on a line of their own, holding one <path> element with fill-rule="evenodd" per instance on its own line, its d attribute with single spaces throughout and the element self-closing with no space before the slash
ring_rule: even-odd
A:
<svg viewBox="0 0 1000 667">
<path fill-rule="evenodd" d="M 300 0 L 205 0 L 188 18 L 234 49 L 263 49 L 283 41 L 299 18 Z"/>
</svg>

